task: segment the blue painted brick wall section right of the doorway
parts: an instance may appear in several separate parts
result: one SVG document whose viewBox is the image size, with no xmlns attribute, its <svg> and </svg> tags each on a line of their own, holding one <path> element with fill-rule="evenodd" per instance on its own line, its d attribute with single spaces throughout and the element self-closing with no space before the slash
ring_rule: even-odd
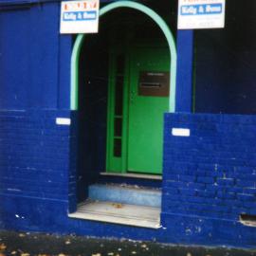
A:
<svg viewBox="0 0 256 256">
<path fill-rule="evenodd" d="M 189 128 L 191 136 L 174 137 L 173 128 Z M 255 246 L 256 228 L 238 224 L 241 213 L 256 214 L 255 132 L 254 116 L 166 114 L 163 219 L 192 218 L 192 229 L 183 227 L 184 235 L 197 233 L 192 240 L 202 232 L 213 242 L 226 233 L 226 241 Z M 223 229 L 211 226 L 218 221 Z"/>
</svg>

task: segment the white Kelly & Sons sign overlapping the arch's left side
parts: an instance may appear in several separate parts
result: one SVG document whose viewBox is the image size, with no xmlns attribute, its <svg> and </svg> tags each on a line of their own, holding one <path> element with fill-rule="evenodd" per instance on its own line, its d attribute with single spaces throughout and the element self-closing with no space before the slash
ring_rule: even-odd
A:
<svg viewBox="0 0 256 256">
<path fill-rule="evenodd" d="M 97 33 L 99 0 L 64 1 L 61 8 L 61 33 Z"/>
</svg>

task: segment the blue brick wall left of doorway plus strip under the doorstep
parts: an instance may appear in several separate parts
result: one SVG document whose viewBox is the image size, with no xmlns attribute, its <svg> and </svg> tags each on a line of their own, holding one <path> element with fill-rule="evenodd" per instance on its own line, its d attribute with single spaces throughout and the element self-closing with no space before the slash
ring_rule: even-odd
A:
<svg viewBox="0 0 256 256">
<path fill-rule="evenodd" d="M 36 109 L 0 111 L 0 229 L 159 240 L 162 229 L 67 216 L 77 203 L 76 114 Z M 56 118 L 71 118 L 71 126 L 57 125 Z"/>
</svg>

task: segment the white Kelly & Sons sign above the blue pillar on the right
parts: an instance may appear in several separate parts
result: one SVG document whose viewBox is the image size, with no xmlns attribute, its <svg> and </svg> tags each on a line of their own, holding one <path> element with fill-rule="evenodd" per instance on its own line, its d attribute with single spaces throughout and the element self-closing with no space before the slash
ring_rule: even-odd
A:
<svg viewBox="0 0 256 256">
<path fill-rule="evenodd" d="M 225 0 L 179 0 L 178 29 L 225 27 Z"/>
</svg>

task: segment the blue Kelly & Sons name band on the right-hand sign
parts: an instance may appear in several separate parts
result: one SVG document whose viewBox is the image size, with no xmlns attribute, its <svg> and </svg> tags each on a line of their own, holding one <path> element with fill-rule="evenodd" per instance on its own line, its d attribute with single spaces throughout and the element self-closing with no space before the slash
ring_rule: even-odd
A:
<svg viewBox="0 0 256 256">
<path fill-rule="evenodd" d="M 181 15 L 212 15 L 222 13 L 222 4 L 181 6 Z"/>
</svg>

